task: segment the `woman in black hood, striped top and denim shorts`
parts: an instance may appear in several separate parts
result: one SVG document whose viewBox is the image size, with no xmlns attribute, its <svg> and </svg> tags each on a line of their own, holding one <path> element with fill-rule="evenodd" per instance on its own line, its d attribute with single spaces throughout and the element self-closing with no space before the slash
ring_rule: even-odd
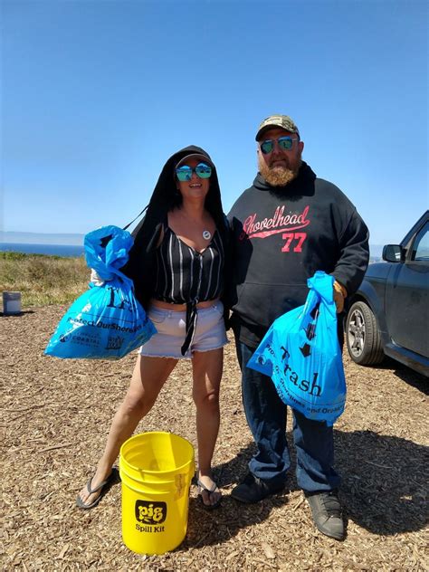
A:
<svg viewBox="0 0 429 572">
<path fill-rule="evenodd" d="M 100 501 L 114 476 L 113 462 L 180 358 L 192 358 L 198 445 L 198 495 L 213 509 L 221 493 L 212 457 L 219 430 L 219 386 L 228 343 L 220 297 L 224 290 L 228 228 L 215 165 L 202 148 L 188 147 L 167 160 L 134 231 L 129 262 L 157 334 L 139 349 L 129 390 L 113 417 L 95 474 L 77 497 L 81 509 Z"/>
</svg>

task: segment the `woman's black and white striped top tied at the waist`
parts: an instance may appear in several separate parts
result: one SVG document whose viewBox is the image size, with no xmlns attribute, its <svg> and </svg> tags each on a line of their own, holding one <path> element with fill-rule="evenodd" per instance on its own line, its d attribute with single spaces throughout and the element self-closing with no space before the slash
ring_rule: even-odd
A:
<svg viewBox="0 0 429 572">
<path fill-rule="evenodd" d="M 166 224 L 157 248 L 156 274 L 156 300 L 188 304 L 219 298 L 224 291 L 224 245 L 217 230 L 199 253 Z"/>
</svg>

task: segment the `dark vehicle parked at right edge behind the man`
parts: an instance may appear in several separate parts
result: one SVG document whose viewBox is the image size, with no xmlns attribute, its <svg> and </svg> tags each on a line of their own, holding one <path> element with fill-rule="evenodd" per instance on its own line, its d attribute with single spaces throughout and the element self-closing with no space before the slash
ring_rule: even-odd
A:
<svg viewBox="0 0 429 572">
<path fill-rule="evenodd" d="M 361 366 L 386 355 L 429 377 L 429 210 L 382 258 L 350 300 L 348 353 Z"/>
</svg>

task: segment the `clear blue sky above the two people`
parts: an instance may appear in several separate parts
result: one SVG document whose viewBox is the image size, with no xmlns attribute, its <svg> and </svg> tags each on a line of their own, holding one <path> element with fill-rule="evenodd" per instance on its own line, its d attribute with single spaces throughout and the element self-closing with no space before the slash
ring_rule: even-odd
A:
<svg viewBox="0 0 429 572">
<path fill-rule="evenodd" d="M 272 113 L 295 120 L 371 243 L 399 242 L 428 208 L 425 1 L 0 5 L 0 230 L 123 226 L 190 144 L 214 159 L 227 212 Z"/>
</svg>

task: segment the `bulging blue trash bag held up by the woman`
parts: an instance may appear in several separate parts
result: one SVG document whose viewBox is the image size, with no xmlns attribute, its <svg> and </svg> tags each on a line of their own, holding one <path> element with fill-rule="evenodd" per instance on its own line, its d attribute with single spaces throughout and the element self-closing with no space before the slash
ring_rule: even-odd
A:
<svg viewBox="0 0 429 572">
<path fill-rule="evenodd" d="M 136 300 L 133 281 L 120 272 L 129 259 L 132 236 L 103 226 L 84 239 L 88 266 L 107 280 L 75 300 L 60 320 L 44 353 L 56 358 L 119 359 L 157 332 Z"/>
</svg>

